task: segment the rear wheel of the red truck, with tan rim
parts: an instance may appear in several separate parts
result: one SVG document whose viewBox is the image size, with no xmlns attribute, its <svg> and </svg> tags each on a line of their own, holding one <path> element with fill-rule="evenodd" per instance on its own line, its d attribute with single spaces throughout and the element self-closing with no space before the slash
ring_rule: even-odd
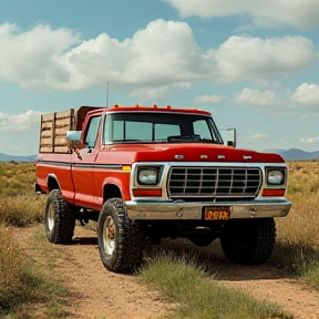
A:
<svg viewBox="0 0 319 319">
<path fill-rule="evenodd" d="M 60 189 L 50 192 L 45 207 L 45 235 L 50 243 L 71 241 L 75 227 L 75 216 Z"/>
</svg>

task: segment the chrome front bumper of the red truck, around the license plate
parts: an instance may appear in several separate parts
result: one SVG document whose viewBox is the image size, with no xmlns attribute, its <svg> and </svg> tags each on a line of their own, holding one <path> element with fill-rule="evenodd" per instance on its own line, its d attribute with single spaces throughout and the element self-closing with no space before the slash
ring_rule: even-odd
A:
<svg viewBox="0 0 319 319">
<path fill-rule="evenodd" d="M 152 220 L 202 220 L 204 208 L 209 206 L 229 206 L 230 219 L 285 217 L 291 202 L 286 198 L 256 198 L 250 202 L 186 203 L 186 202 L 125 202 L 131 219 Z"/>
</svg>

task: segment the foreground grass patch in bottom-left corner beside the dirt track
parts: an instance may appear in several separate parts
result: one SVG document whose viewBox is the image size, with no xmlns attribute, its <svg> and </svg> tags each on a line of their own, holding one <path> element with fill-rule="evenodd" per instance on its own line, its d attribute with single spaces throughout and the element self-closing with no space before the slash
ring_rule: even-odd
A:
<svg viewBox="0 0 319 319">
<path fill-rule="evenodd" d="M 39 306 L 48 319 L 65 318 L 68 313 L 61 303 L 66 295 L 61 284 L 52 281 L 21 251 L 13 228 L 0 224 L 0 318 L 31 319 L 39 312 Z"/>
</svg>

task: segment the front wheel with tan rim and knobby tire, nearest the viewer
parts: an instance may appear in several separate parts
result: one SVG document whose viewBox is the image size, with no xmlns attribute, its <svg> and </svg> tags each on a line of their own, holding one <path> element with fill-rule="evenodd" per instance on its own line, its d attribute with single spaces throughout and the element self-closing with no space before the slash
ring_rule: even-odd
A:
<svg viewBox="0 0 319 319">
<path fill-rule="evenodd" d="M 127 216 L 123 199 L 107 199 L 97 222 L 100 257 L 107 270 L 131 272 L 143 258 L 144 236 Z"/>
</svg>

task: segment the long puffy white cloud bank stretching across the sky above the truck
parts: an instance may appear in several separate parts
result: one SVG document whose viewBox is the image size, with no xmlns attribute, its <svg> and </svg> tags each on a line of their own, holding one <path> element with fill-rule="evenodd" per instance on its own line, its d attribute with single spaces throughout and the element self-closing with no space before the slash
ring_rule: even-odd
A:
<svg viewBox="0 0 319 319">
<path fill-rule="evenodd" d="M 230 37 L 205 51 L 185 22 L 156 20 L 120 42 L 101 33 L 80 41 L 69 29 L 0 25 L 0 80 L 38 90 L 83 90 L 106 83 L 133 93 L 188 89 L 194 82 L 234 82 L 289 75 L 316 58 L 301 37 Z M 287 54 L 289 52 L 289 54 Z M 160 92 L 158 91 L 158 92 Z M 143 93 L 142 93 L 143 94 Z"/>
</svg>

